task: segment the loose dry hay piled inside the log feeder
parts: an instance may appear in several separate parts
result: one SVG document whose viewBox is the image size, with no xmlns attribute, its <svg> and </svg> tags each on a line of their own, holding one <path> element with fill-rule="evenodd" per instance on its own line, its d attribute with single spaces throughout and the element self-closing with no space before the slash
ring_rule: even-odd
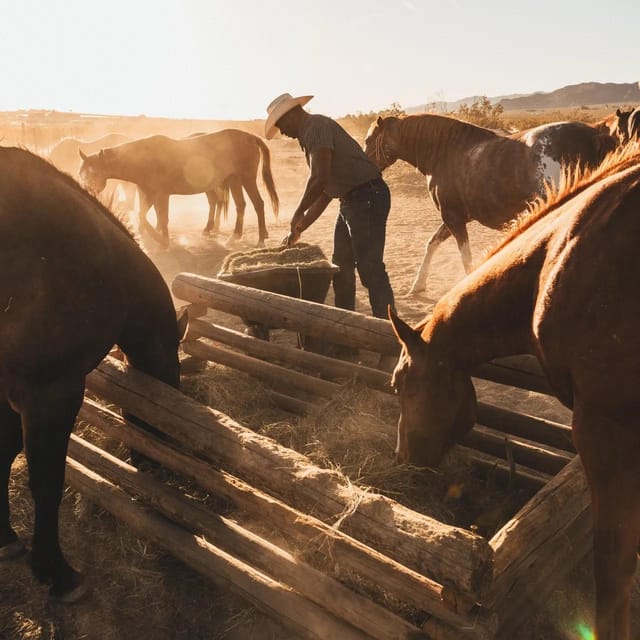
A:
<svg viewBox="0 0 640 640">
<path fill-rule="evenodd" d="M 437 469 L 398 465 L 394 460 L 397 401 L 357 383 L 346 384 L 307 416 L 276 407 L 270 389 L 247 374 L 221 365 L 189 376 L 183 390 L 319 467 L 340 472 L 362 491 L 384 494 L 441 522 L 492 535 L 530 497 L 479 476 L 467 454 L 454 448 Z M 346 514 L 345 514 L 346 515 Z"/>
</svg>

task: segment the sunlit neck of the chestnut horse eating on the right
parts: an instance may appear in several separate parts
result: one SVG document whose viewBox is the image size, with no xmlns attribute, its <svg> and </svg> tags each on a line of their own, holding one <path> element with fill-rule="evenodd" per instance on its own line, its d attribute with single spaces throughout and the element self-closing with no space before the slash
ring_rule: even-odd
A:
<svg viewBox="0 0 640 640">
<path fill-rule="evenodd" d="M 505 249 L 445 295 L 425 327 L 430 348 L 457 368 L 471 370 L 493 358 L 535 354 L 532 317 L 544 248 L 537 243 L 528 255 L 526 248 Z M 520 250 L 517 260 L 505 255 Z"/>
</svg>

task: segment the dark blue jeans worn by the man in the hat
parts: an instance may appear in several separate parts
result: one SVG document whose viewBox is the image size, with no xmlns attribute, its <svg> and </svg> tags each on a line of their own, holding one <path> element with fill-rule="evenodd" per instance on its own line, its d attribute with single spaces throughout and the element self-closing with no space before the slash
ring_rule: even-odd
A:
<svg viewBox="0 0 640 640">
<path fill-rule="evenodd" d="M 384 243 L 391 197 L 382 178 L 356 187 L 340 199 L 333 237 L 333 262 L 340 271 L 333 277 L 336 307 L 355 309 L 356 276 L 369 292 L 371 311 L 387 317 L 394 307 L 393 291 L 385 269 Z"/>
</svg>

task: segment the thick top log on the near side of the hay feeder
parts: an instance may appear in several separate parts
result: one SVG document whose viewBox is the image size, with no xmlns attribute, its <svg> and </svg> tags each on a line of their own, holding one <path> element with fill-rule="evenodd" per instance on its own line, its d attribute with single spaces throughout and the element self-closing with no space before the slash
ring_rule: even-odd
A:
<svg viewBox="0 0 640 640">
<path fill-rule="evenodd" d="M 242 427 L 176 389 L 107 358 L 89 376 L 88 388 L 229 469 L 268 487 L 287 502 L 341 526 L 383 553 L 476 594 L 487 584 L 492 552 L 481 536 L 417 514 L 353 487 L 341 474 L 319 469 L 303 455 Z"/>
</svg>

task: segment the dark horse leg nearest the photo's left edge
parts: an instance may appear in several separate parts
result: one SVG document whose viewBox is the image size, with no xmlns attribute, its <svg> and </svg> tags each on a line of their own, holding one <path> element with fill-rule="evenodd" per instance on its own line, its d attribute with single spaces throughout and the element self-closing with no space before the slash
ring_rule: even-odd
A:
<svg viewBox="0 0 640 640">
<path fill-rule="evenodd" d="M 11 528 L 9 510 L 9 474 L 11 465 L 22 450 L 20 416 L 9 403 L 0 404 L 0 560 L 13 558 L 24 550 Z"/>
</svg>

